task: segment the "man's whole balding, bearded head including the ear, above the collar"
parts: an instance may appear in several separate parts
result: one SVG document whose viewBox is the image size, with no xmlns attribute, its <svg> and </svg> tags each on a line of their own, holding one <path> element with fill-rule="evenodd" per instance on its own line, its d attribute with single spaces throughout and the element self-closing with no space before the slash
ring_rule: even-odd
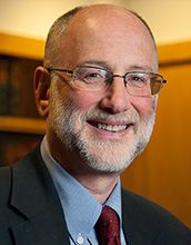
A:
<svg viewBox="0 0 191 245">
<path fill-rule="evenodd" d="M 44 67 L 50 72 L 44 68 L 36 71 L 36 98 L 40 114 L 47 117 L 53 157 L 71 171 L 123 170 L 149 141 L 158 100 L 158 95 L 132 92 L 122 77 L 135 71 L 131 80 L 139 82 L 138 71 L 158 70 L 155 43 L 144 21 L 110 4 L 76 9 L 52 26 Z M 89 90 L 86 81 L 76 86 L 81 85 L 79 77 L 71 79 L 77 67 L 86 67 L 78 76 L 83 72 L 91 80 L 98 80 L 100 71 L 89 74 L 87 67 L 117 76 L 107 89 Z"/>
</svg>

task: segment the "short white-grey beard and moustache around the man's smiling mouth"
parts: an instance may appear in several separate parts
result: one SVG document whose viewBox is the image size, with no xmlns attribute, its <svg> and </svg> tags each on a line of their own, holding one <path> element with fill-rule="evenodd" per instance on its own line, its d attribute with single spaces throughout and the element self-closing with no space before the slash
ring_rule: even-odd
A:
<svg viewBox="0 0 191 245">
<path fill-rule="evenodd" d="M 127 168 L 145 148 L 154 125 L 154 109 L 147 118 L 140 118 L 135 110 L 120 115 L 111 115 L 94 108 L 81 111 L 71 100 L 60 96 L 57 82 L 52 84 L 52 94 L 49 127 L 64 148 L 79 155 L 79 161 L 82 160 L 94 170 L 117 173 Z M 122 140 L 104 140 L 87 127 L 87 119 L 92 117 L 133 121 L 135 126 Z"/>
</svg>

